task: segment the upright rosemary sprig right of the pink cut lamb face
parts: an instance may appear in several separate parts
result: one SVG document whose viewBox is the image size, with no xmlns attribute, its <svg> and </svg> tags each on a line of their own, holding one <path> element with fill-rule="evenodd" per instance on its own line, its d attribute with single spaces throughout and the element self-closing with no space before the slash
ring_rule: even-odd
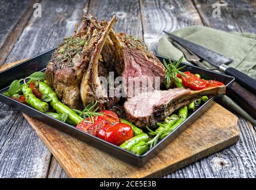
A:
<svg viewBox="0 0 256 190">
<path fill-rule="evenodd" d="M 164 59 L 163 62 L 164 62 L 165 68 L 166 68 L 166 70 L 165 70 L 165 88 L 166 89 L 171 87 L 172 79 L 179 82 L 178 78 L 177 78 L 177 73 L 186 77 L 186 75 L 183 72 L 180 71 L 186 65 L 181 66 L 180 68 L 178 68 L 178 66 L 180 66 L 182 60 L 183 60 L 183 56 L 181 56 L 181 58 L 178 59 L 178 61 L 173 61 L 172 62 L 171 59 L 168 59 L 169 64 L 167 64 L 165 59 Z"/>
</svg>

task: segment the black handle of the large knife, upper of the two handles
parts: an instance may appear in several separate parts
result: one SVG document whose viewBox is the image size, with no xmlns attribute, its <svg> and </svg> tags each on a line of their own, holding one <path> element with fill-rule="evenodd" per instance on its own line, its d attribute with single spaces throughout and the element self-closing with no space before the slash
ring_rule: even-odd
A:
<svg viewBox="0 0 256 190">
<path fill-rule="evenodd" d="M 256 94 L 256 80 L 238 71 L 238 69 L 235 69 L 232 67 L 226 68 L 225 72 L 226 74 L 232 75 L 233 77 L 235 77 L 236 78 L 235 80 L 239 84 L 243 85 L 243 87 L 247 88 L 248 90 L 251 90 L 252 93 Z"/>
</svg>

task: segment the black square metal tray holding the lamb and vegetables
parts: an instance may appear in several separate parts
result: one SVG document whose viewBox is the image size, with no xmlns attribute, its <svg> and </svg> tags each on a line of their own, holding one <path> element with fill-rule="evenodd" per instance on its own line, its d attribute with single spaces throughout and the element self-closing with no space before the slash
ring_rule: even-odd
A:
<svg viewBox="0 0 256 190">
<path fill-rule="evenodd" d="M 106 151 L 112 156 L 118 157 L 125 162 L 132 163 L 135 166 L 142 166 L 149 159 L 152 159 L 156 154 L 159 153 L 163 148 L 166 147 L 172 140 L 174 140 L 177 135 L 184 131 L 190 124 L 192 124 L 195 119 L 197 119 L 205 110 L 209 109 L 212 105 L 212 100 L 215 99 L 216 96 L 211 97 L 206 103 L 204 103 L 199 109 L 190 115 L 186 121 L 184 121 L 180 126 L 178 126 L 174 131 L 172 131 L 167 137 L 161 140 L 155 147 L 147 151 L 141 156 L 137 156 L 134 153 L 131 153 L 127 150 L 124 150 L 117 145 L 113 145 L 107 143 L 106 141 L 101 140 L 100 138 L 94 137 L 86 132 L 83 132 L 79 129 L 76 129 L 75 126 L 66 124 L 64 122 L 58 121 L 57 119 L 51 118 L 51 116 L 46 115 L 45 113 L 39 112 L 36 109 L 33 109 L 30 106 L 24 105 L 23 103 L 17 102 L 16 100 L 11 99 L 10 97 L 5 96 L 4 91 L 7 91 L 9 85 L 12 81 L 24 78 L 29 76 L 35 71 L 44 71 L 48 62 L 51 59 L 51 55 L 54 52 L 55 47 L 53 49 L 48 50 L 47 52 L 41 53 L 38 56 L 28 59 L 27 61 L 21 62 L 11 68 L 6 69 L 5 71 L 0 72 L 0 101 L 9 106 L 14 107 L 20 112 L 24 112 L 27 115 L 38 119 L 39 121 L 44 122 L 45 124 L 51 125 L 54 128 L 57 128 L 61 131 L 66 132 L 67 134 L 73 135 L 73 137 L 78 138 L 79 140 L 85 141 L 86 143 L 99 148 L 100 150 Z M 162 56 L 156 55 L 160 61 L 166 59 Z M 230 84 L 235 80 L 234 77 L 230 77 L 228 75 L 221 74 L 219 72 L 213 72 L 206 69 L 199 68 L 197 66 L 188 65 L 182 63 L 181 66 L 186 66 L 186 71 L 190 71 L 192 73 L 198 73 L 205 79 L 218 80 L 222 83 L 226 84 L 226 88 L 229 88 Z"/>
</svg>

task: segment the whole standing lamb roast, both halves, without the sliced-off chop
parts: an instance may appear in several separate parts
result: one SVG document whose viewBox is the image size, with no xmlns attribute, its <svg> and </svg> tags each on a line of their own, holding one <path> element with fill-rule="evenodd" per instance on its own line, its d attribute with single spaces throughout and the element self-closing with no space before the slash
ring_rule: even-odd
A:
<svg viewBox="0 0 256 190">
<path fill-rule="evenodd" d="M 101 108 L 115 105 L 119 98 L 105 96 L 106 88 L 99 79 L 110 71 L 124 77 L 125 87 L 132 84 L 132 93 L 125 89 L 128 97 L 134 96 L 136 88 L 139 93 L 159 88 L 164 81 L 164 66 L 142 40 L 116 34 L 112 29 L 115 16 L 109 22 L 97 21 L 90 14 L 84 17 L 81 29 L 64 39 L 47 65 L 47 81 L 64 104 L 72 109 L 81 109 L 95 100 Z M 104 64 L 98 64 L 100 53 Z M 145 80 L 146 89 L 141 84 Z"/>
</svg>

